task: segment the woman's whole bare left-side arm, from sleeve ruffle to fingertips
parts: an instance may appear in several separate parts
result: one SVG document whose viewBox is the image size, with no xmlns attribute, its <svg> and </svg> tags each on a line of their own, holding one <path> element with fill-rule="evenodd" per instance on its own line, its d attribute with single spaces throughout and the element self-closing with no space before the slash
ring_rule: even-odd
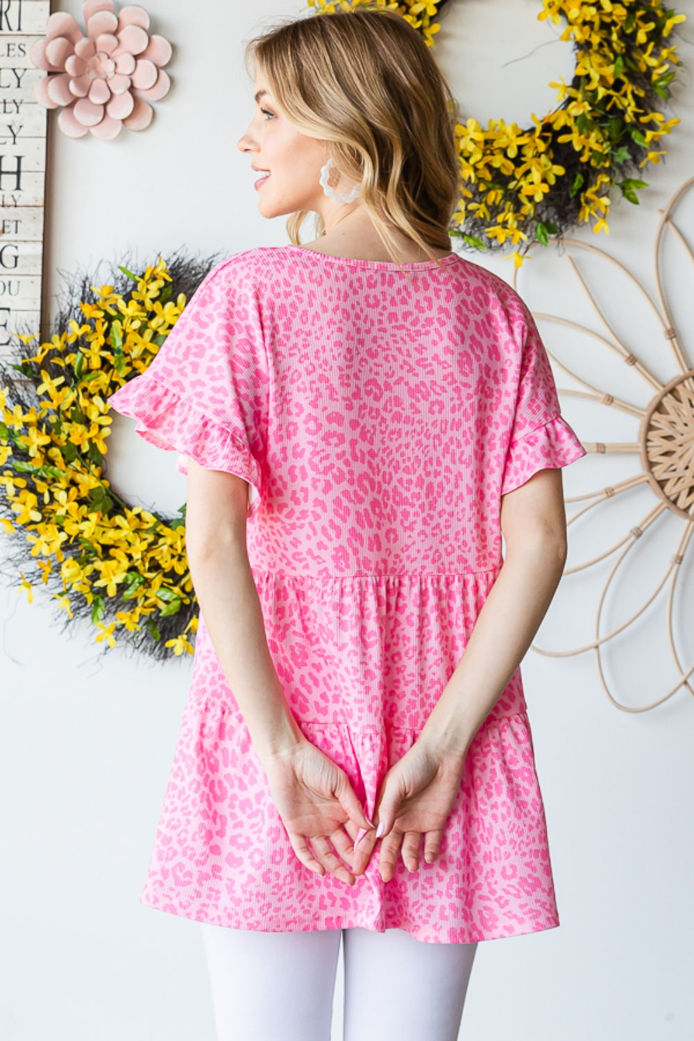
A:
<svg viewBox="0 0 694 1041">
<path fill-rule="evenodd" d="M 188 459 L 185 533 L 192 584 L 297 857 L 310 871 L 330 871 L 353 886 L 355 874 L 345 867 L 352 839 L 360 829 L 371 835 L 375 829 L 344 770 L 303 735 L 284 695 L 246 548 L 248 491 L 235 474 Z"/>
</svg>

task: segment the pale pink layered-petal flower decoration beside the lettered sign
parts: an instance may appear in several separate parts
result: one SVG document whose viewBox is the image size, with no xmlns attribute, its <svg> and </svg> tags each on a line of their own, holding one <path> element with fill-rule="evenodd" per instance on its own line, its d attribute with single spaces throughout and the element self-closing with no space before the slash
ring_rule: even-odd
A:
<svg viewBox="0 0 694 1041">
<path fill-rule="evenodd" d="M 72 15 L 55 11 L 46 22 L 46 37 L 30 51 L 44 76 L 35 86 L 46 108 L 62 107 L 58 126 L 69 137 L 110 139 L 121 132 L 144 130 L 152 122 L 150 101 L 169 93 L 171 79 L 161 66 L 172 55 L 163 36 L 150 35 L 150 16 L 129 4 L 115 15 L 113 0 L 85 0 L 86 35 Z"/>
</svg>

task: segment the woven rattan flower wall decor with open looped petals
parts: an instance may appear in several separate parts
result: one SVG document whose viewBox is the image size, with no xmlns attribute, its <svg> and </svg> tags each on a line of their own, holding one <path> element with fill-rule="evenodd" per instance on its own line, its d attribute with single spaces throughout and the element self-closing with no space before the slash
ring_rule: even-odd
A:
<svg viewBox="0 0 694 1041">
<path fill-rule="evenodd" d="M 535 643 L 533 650 L 541 655 L 555 658 L 570 657 L 593 651 L 602 689 L 611 703 L 624 712 L 646 712 L 663 705 L 682 689 L 694 695 L 694 687 L 692 686 L 694 664 L 683 664 L 684 652 L 677 646 L 675 636 L 675 623 L 678 620 L 675 613 L 676 592 L 678 583 L 682 584 L 685 581 L 683 579 L 683 565 L 689 564 L 690 569 L 694 573 L 694 559 L 692 557 L 694 554 L 694 541 L 692 541 L 694 534 L 694 359 L 687 357 L 683 347 L 683 338 L 675 328 L 671 307 L 664 290 L 662 264 L 662 247 L 668 233 L 670 236 L 674 236 L 689 260 L 694 262 L 694 250 L 674 220 L 675 207 L 693 185 L 694 177 L 687 180 L 677 189 L 666 209 L 662 211 L 654 245 L 658 302 L 650 298 L 639 280 L 614 257 L 588 243 L 568 237 L 564 239 L 567 246 L 577 247 L 581 251 L 590 251 L 593 255 L 599 254 L 609 264 L 615 265 L 626 276 L 628 284 L 640 295 L 641 300 L 644 301 L 645 309 L 654 315 L 656 325 L 662 329 L 664 341 L 670 355 L 669 378 L 659 378 L 652 372 L 653 365 L 645 363 L 638 356 L 636 347 L 632 348 L 625 344 L 623 338 L 615 332 L 603 313 L 603 309 L 600 308 L 594 294 L 589 288 L 580 266 L 568 252 L 565 259 L 570 263 L 580 285 L 603 324 L 607 335 L 596 333 L 582 323 L 569 321 L 561 315 L 533 310 L 535 318 L 540 321 L 558 323 L 565 328 L 572 328 L 580 334 L 590 336 L 593 340 L 601 344 L 608 352 L 621 358 L 633 373 L 638 374 L 649 396 L 647 404 L 639 406 L 634 401 L 629 401 L 626 393 L 624 397 L 609 393 L 577 376 L 572 365 L 560 361 L 548 349 L 552 363 L 560 373 L 570 377 L 582 387 L 582 389 L 560 388 L 561 396 L 586 399 L 611 411 L 617 410 L 624 415 L 632 416 L 636 421 L 638 429 L 637 436 L 631 441 L 583 440 L 584 448 L 588 453 L 612 456 L 615 461 L 625 455 L 631 456 L 633 460 L 638 461 L 637 473 L 585 494 L 566 497 L 565 501 L 569 510 L 575 506 L 574 511 L 568 517 L 569 533 L 572 531 L 572 526 L 581 523 L 583 525 L 592 524 L 591 534 L 597 534 L 595 525 L 599 525 L 599 518 L 605 517 L 605 513 L 601 511 L 614 509 L 620 499 L 633 496 L 639 488 L 650 491 L 650 502 L 647 503 L 646 512 L 638 524 L 626 531 L 614 544 L 583 563 L 567 567 L 564 572 L 562 584 L 569 581 L 568 576 L 580 573 L 585 576 L 591 568 L 595 568 L 603 562 L 609 563 L 611 558 L 615 558 L 612 565 L 609 566 L 607 578 L 602 582 L 599 592 L 593 639 L 569 650 L 550 651 Z M 682 265 L 678 265 L 677 275 L 678 278 L 682 278 Z M 513 282 L 515 287 L 515 277 Z M 622 306 L 627 306 L 625 300 L 622 300 L 621 303 Z M 614 628 L 607 627 L 605 614 L 609 593 L 613 591 L 613 587 L 618 583 L 620 577 L 624 577 L 625 567 L 638 567 L 638 548 L 641 545 L 644 534 L 649 531 L 658 534 L 659 526 L 663 527 L 666 523 L 669 526 L 663 530 L 663 543 L 670 544 L 671 542 L 672 555 L 667 562 L 665 574 L 657 583 L 656 588 L 651 589 L 649 595 L 639 604 L 637 610 L 632 611 L 628 617 Z M 664 619 L 661 618 L 661 620 L 665 621 L 669 653 L 674 664 L 675 676 L 678 678 L 674 683 L 664 684 L 665 689 L 646 704 L 626 705 L 617 695 L 606 676 L 606 651 L 611 642 L 614 645 L 617 636 L 628 634 L 631 627 L 637 623 L 642 624 L 645 612 L 649 608 L 652 608 L 653 611 L 657 610 L 659 595 L 665 591 L 666 586 L 667 604 Z M 686 608 L 685 613 L 687 615 Z M 691 621 L 691 607 L 688 617 Z M 689 627 L 683 625 L 682 628 L 685 632 L 691 632 L 691 625 Z"/>
</svg>

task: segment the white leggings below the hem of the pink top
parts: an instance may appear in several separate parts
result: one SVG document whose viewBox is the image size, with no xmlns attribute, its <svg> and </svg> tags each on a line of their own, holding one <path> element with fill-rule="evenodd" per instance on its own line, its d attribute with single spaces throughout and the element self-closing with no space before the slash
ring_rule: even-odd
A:
<svg viewBox="0 0 694 1041">
<path fill-rule="evenodd" d="M 201 925 L 217 1041 L 330 1041 L 340 940 L 343 1041 L 458 1038 L 477 943 L 425 943 L 401 929 Z"/>
</svg>

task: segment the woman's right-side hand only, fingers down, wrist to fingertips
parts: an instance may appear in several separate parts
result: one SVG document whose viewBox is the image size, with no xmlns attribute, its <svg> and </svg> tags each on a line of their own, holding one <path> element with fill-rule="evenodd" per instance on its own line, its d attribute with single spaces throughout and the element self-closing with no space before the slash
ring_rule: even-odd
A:
<svg viewBox="0 0 694 1041">
<path fill-rule="evenodd" d="M 425 860 L 432 863 L 436 859 L 443 828 L 460 790 L 464 763 L 465 756 L 458 752 L 443 752 L 435 744 L 415 741 L 390 767 L 381 783 L 374 813 L 377 824 L 384 826 L 379 866 L 384 882 L 395 873 L 401 843 L 403 862 L 410 871 L 419 867 L 422 835 Z M 357 872 L 363 870 L 375 841 L 375 833 L 370 832 L 359 843 L 353 863 Z"/>
</svg>

